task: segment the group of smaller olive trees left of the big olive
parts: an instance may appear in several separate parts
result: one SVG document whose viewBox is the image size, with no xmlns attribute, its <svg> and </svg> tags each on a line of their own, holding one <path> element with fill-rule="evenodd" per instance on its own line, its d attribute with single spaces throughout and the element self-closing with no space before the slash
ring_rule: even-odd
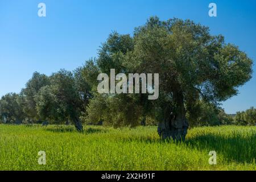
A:
<svg viewBox="0 0 256 182">
<path fill-rule="evenodd" d="M 35 72 L 19 94 L 9 93 L 0 100 L 4 123 L 72 122 L 82 131 L 80 116 L 91 97 L 90 86 L 82 76 L 86 68 L 73 73 L 61 69 L 51 76 Z"/>
</svg>

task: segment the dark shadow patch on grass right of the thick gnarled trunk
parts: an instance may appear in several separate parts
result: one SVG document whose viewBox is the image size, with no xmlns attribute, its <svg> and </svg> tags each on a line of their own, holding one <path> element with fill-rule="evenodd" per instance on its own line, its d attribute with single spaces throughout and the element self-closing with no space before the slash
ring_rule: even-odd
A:
<svg viewBox="0 0 256 182">
<path fill-rule="evenodd" d="M 222 136 L 216 134 L 203 134 L 189 138 L 185 141 L 188 147 L 197 150 L 216 151 L 229 162 L 253 163 L 256 158 L 256 134 L 243 136 Z"/>
</svg>

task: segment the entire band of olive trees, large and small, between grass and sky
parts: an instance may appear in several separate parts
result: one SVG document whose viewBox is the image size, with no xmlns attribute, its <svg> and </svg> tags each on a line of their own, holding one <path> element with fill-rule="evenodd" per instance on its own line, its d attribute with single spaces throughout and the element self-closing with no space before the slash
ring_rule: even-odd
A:
<svg viewBox="0 0 256 182">
<path fill-rule="evenodd" d="M 191 20 L 151 17 L 134 34 L 113 32 L 98 57 L 73 72 L 51 76 L 35 72 L 19 94 L 0 101 L 5 123 L 82 122 L 114 127 L 158 125 L 161 138 L 184 139 L 190 126 L 255 123 L 252 108 L 235 119 L 220 103 L 238 94 L 249 81 L 253 61 L 224 36 Z M 99 94 L 99 73 L 159 73 L 159 98 L 148 94 Z M 154 85 L 152 85 L 154 88 Z"/>
</svg>

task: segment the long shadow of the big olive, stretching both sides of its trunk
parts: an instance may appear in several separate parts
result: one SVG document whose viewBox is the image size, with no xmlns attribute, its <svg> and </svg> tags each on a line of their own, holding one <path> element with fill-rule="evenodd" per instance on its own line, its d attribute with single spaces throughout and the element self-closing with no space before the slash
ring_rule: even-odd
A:
<svg viewBox="0 0 256 182">
<path fill-rule="evenodd" d="M 234 136 L 199 134 L 181 143 L 175 142 L 174 140 L 162 140 L 149 136 L 124 137 L 119 140 L 125 142 L 184 144 L 184 147 L 199 151 L 216 151 L 217 157 L 218 154 L 220 154 L 224 156 L 224 159 L 228 162 L 254 163 L 253 161 L 256 159 L 256 134 L 247 136 L 243 136 L 242 134 L 236 134 Z"/>
</svg>

